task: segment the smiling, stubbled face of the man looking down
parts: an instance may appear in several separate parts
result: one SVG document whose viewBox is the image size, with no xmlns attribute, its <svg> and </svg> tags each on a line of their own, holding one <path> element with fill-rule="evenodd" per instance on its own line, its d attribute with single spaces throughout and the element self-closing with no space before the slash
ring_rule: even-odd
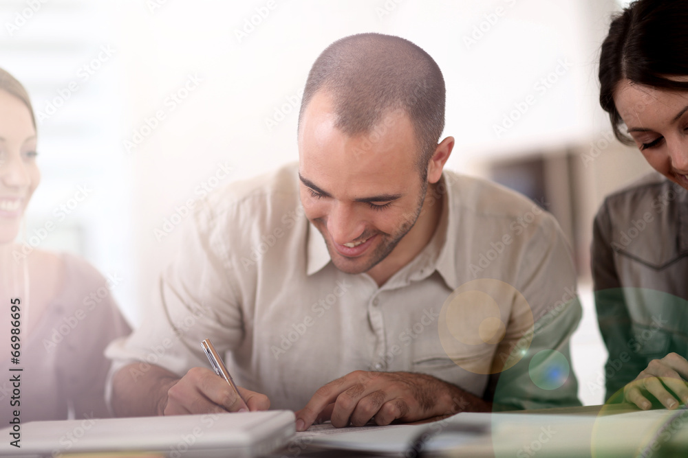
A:
<svg viewBox="0 0 688 458">
<path fill-rule="evenodd" d="M 371 132 L 347 136 L 335 126 L 332 99 L 319 91 L 301 120 L 301 203 L 332 262 L 346 273 L 367 272 L 394 251 L 427 190 L 408 115 L 396 110 L 383 118 Z"/>
</svg>

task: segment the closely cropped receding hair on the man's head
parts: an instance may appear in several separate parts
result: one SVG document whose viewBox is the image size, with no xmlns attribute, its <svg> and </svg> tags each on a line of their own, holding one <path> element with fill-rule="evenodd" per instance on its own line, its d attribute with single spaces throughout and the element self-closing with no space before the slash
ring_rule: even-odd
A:
<svg viewBox="0 0 688 458">
<path fill-rule="evenodd" d="M 349 136 L 371 132 L 389 111 L 411 118 L 418 143 L 416 165 L 427 164 L 444 130 L 444 78 L 437 63 L 404 38 L 383 34 L 347 36 L 328 46 L 308 73 L 305 107 L 323 89 L 334 98 L 336 128 Z"/>
</svg>

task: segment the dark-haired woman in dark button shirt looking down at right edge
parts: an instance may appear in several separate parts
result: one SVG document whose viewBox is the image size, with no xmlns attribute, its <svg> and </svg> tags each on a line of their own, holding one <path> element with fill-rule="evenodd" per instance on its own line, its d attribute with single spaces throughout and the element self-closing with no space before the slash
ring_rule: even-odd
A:
<svg viewBox="0 0 688 458">
<path fill-rule="evenodd" d="M 600 103 L 656 170 L 606 198 L 592 271 L 607 396 L 688 401 L 688 1 L 641 0 L 602 45 Z"/>
</svg>

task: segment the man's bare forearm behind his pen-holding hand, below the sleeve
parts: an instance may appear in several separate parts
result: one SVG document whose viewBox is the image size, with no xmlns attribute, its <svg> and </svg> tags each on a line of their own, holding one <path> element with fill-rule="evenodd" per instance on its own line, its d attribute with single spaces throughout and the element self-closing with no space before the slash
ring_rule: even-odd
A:
<svg viewBox="0 0 688 458">
<path fill-rule="evenodd" d="M 160 366 L 133 363 L 122 367 L 112 379 L 112 409 L 118 417 L 162 415 L 167 391 L 179 377 Z"/>
</svg>

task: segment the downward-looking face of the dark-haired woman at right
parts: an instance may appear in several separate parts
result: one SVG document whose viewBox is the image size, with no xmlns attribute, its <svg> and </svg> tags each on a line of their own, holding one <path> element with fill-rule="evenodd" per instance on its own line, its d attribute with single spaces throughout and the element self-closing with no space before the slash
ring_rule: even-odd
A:
<svg viewBox="0 0 688 458">
<path fill-rule="evenodd" d="M 649 165 L 688 189 L 688 92 L 623 80 L 614 104 Z"/>
</svg>

